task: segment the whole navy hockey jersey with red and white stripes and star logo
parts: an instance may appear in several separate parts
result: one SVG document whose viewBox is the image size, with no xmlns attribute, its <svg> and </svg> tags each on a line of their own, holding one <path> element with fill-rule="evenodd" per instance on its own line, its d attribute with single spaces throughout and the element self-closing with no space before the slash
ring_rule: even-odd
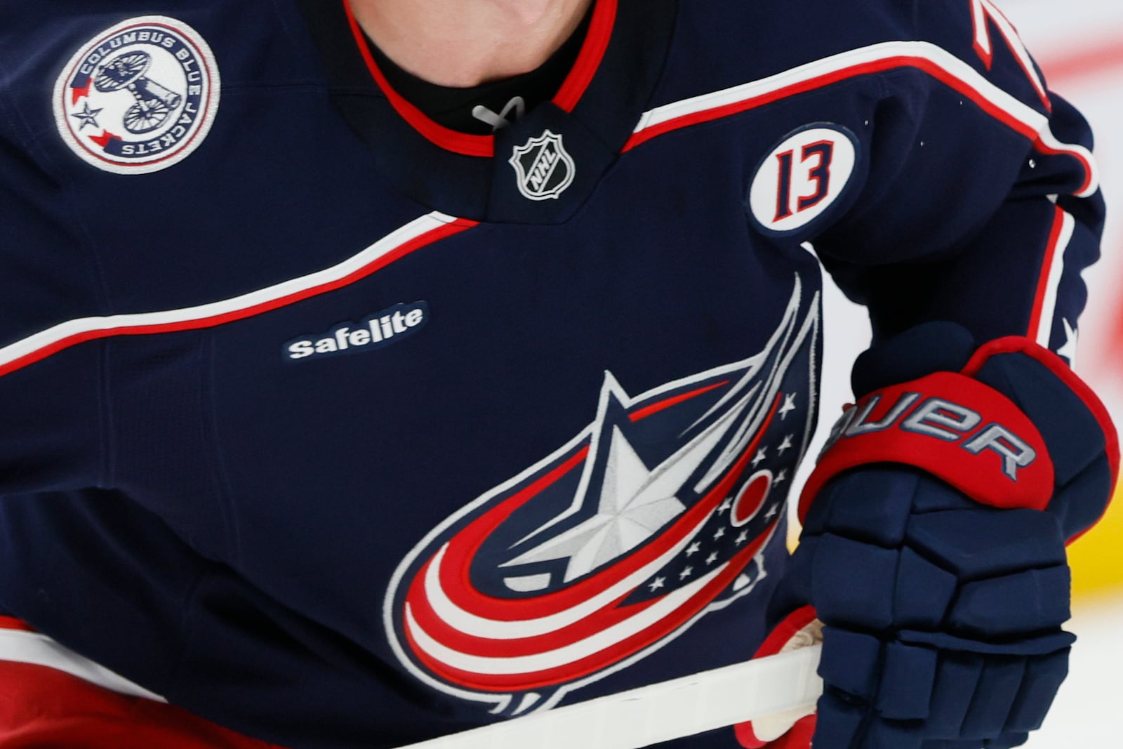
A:
<svg viewBox="0 0 1123 749">
<path fill-rule="evenodd" d="M 0 613 L 294 749 L 745 659 L 820 264 L 1070 355 L 1089 148 L 990 0 L 596 0 L 493 136 L 339 0 L 6 3 Z"/>
</svg>

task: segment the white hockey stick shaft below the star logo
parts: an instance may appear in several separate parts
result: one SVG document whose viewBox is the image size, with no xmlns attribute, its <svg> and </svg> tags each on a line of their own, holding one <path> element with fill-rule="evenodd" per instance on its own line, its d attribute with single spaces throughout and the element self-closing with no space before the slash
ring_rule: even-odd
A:
<svg viewBox="0 0 1123 749">
<path fill-rule="evenodd" d="M 822 694 L 822 646 L 649 684 L 401 749 L 639 749 L 780 713 Z"/>
</svg>

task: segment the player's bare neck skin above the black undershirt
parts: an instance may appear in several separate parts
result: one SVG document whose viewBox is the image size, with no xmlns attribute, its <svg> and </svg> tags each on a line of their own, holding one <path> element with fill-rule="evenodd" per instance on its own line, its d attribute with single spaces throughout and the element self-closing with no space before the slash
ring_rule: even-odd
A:
<svg viewBox="0 0 1123 749">
<path fill-rule="evenodd" d="M 382 52 L 431 83 L 474 86 L 536 70 L 593 0 L 350 0 Z"/>
</svg>

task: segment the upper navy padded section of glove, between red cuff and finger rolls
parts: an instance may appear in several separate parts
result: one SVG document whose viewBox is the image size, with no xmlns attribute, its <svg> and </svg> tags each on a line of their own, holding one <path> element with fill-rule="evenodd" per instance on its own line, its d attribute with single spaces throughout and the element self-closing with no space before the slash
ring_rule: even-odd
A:
<svg viewBox="0 0 1123 749">
<path fill-rule="evenodd" d="M 1069 619 L 1054 515 L 987 508 L 903 466 L 832 481 L 805 518 L 792 576 L 806 577 L 820 619 L 858 630 L 940 631 L 1007 646 Z"/>
</svg>

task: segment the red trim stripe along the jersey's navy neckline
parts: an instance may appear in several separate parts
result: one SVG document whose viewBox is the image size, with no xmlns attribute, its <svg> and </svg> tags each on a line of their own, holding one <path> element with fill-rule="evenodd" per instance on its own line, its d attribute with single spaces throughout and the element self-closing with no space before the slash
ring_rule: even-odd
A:
<svg viewBox="0 0 1123 749">
<path fill-rule="evenodd" d="M 590 82 L 593 80 L 593 75 L 600 67 L 601 61 L 604 58 L 604 53 L 609 48 L 609 40 L 612 38 L 612 28 L 615 25 L 618 0 L 594 1 L 596 6 L 593 8 L 588 33 L 585 35 L 585 42 L 581 47 L 581 53 L 577 55 L 577 62 L 574 63 L 573 70 L 569 71 L 565 82 L 558 89 L 558 92 L 554 94 L 553 99 L 558 108 L 567 112 L 573 111 L 573 108 L 577 106 L 577 101 L 585 93 L 585 89 L 588 88 Z M 359 28 L 358 21 L 355 19 L 355 13 L 351 12 L 350 2 L 348 0 L 343 0 L 343 2 L 344 12 L 347 13 L 347 22 L 350 25 L 351 34 L 355 37 L 355 45 L 358 47 L 359 54 L 363 55 L 363 61 L 366 63 L 367 70 L 371 71 L 371 76 L 378 84 L 378 88 L 382 89 L 382 92 L 386 94 L 386 99 L 390 100 L 391 106 L 398 113 L 430 143 L 446 150 L 465 156 L 494 156 L 494 136 L 467 135 L 438 125 L 391 88 L 390 82 L 386 81 L 386 77 L 374 62 L 374 56 L 366 44 L 363 29 Z"/>
</svg>

